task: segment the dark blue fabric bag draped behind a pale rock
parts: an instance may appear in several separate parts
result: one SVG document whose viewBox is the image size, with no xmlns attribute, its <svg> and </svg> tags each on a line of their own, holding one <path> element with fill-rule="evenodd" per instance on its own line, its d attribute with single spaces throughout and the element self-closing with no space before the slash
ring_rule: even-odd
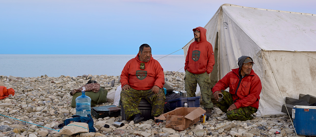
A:
<svg viewBox="0 0 316 137">
<path fill-rule="evenodd" d="M 63 128 L 64 126 L 67 126 L 70 123 L 73 122 L 82 122 L 87 123 L 89 125 L 89 132 L 95 132 L 95 128 L 93 126 L 93 119 L 91 117 L 91 114 L 88 114 L 88 117 L 81 117 L 79 115 L 73 115 L 71 118 L 68 118 L 64 121 L 64 123 L 61 123 L 58 125 L 58 128 Z"/>
</svg>

